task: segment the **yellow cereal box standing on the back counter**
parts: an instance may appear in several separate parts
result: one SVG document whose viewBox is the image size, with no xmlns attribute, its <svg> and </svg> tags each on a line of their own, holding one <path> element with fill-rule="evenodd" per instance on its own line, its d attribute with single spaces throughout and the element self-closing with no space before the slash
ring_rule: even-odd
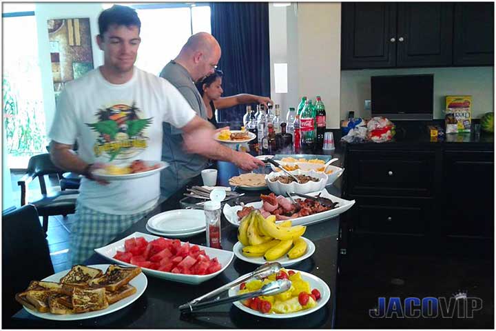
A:
<svg viewBox="0 0 496 331">
<path fill-rule="evenodd" d="M 470 132 L 472 121 L 472 97 L 470 95 L 446 97 L 446 133 Z"/>
</svg>

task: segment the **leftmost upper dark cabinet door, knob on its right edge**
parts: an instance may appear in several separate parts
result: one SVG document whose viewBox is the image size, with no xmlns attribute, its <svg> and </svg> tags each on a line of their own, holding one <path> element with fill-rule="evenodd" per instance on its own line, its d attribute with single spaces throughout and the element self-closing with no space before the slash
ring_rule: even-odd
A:
<svg viewBox="0 0 496 331">
<path fill-rule="evenodd" d="M 342 3 L 342 68 L 396 65 L 396 4 Z"/>
</svg>

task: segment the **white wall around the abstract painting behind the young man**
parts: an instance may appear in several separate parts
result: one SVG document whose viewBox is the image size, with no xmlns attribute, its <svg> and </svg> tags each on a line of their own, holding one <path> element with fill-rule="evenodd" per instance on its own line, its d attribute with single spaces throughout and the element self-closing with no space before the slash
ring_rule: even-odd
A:
<svg viewBox="0 0 496 331">
<path fill-rule="evenodd" d="M 45 106 L 45 123 L 47 133 L 52 127 L 55 112 L 55 96 L 53 92 L 52 63 L 50 62 L 50 43 L 48 41 L 48 19 L 90 19 L 92 34 L 93 66 L 103 64 L 103 52 L 96 44 L 98 34 L 98 17 L 103 10 L 101 3 L 36 3 L 34 13 L 37 18 L 38 54 L 41 70 L 41 86 L 43 88 L 43 105 Z"/>
</svg>

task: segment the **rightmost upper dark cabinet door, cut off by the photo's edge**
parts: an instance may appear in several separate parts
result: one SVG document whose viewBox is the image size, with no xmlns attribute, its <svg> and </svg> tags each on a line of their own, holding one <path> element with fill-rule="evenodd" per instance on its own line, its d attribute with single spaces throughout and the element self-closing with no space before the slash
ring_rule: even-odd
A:
<svg viewBox="0 0 496 331">
<path fill-rule="evenodd" d="M 494 65 L 494 3 L 455 3 L 453 64 Z"/>
</svg>

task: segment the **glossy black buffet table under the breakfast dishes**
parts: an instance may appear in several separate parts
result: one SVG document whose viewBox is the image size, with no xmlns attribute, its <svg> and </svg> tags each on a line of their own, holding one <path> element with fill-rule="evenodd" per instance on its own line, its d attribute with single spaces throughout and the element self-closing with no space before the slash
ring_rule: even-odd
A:
<svg viewBox="0 0 496 331">
<path fill-rule="evenodd" d="M 218 168 L 218 182 L 226 182 L 233 174 L 230 173 L 227 164 L 218 163 L 214 165 Z M 340 179 L 333 185 L 326 187 L 330 194 L 336 197 L 341 196 Z M 114 241 L 123 239 L 134 232 L 149 233 L 146 230 L 147 221 L 150 217 L 169 210 L 184 208 L 180 200 L 184 198 L 187 188 L 193 185 L 202 185 L 200 176 L 194 177 L 187 185 L 178 190 L 168 199 L 162 201 L 146 217 L 134 223 L 130 228 L 118 234 Z M 227 201 L 230 205 L 251 201 L 260 201 L 260 194 L 269 194 L 265 190 L 240 190 L 233 188 L 236 192 L 245 193 L 238 199 Z M 238 228 L 229 223 L 225 216 L 221 219 L 221 244 L 223 250 L 233 250 L 233 246 L 238 241 Z M 158 279 L 147 276 L 147 288 L 145 292 L 130 305 L 99 317 L 90 319 L 80 319 L 76 321 L 53 321 L 50 319 L 41 319 L 34 317 L 26 310 L 19 310 L 12 317 L 12 326 L 14 328 L 43 328 L 43 329 L 67 329 L 67 328 L 160 328 L 160 329 L 199 329 L 199 328 L 248 328 L 248 329 L 313 329 L 313 328 L 333 328 L 336 316 L 336 281 L 338 279 L 339 265 L 339 241 L 340 241 L 340 217 L 323 219 L 318 223 L 307 226 L 304 237 L 313 241 L 316 250 L 311 257 L 291 265 L 291 270 L 300 270 L 309 272 L 319 277 L 329 285 L 331 297 L 325 305 L 319 310 L 311 312 L 301 317 L 271 319 L 267 317 L 258 317 L 253 314 L 244 312 L 233 303 L 224 303 L 214 307 L 199 310 L 194 314 L 183 314 L 178 307 L 192 299 L 202 296 L 207 292 L 220 288 L 238 277 L 253 272 L 258 265 L 242 261 L 234 257 L 230 265 L 213 279 L 209 279 L 199 285 L 189 285 Z M 205 232 L 196 234 L 193 237 L 180 239 L 189 241 L 197 245 L 206 245 L 207 238 Z M 99 254 L 93 254 L 92 257 L 84 262 L 85 265 L 95 265 L 103 263 L 112 263 L 101 257 Z M 222 295 L 222 294 L 221 294 Z M 226 294 L 227 295 L 227 294 Z"/>
</svg>

